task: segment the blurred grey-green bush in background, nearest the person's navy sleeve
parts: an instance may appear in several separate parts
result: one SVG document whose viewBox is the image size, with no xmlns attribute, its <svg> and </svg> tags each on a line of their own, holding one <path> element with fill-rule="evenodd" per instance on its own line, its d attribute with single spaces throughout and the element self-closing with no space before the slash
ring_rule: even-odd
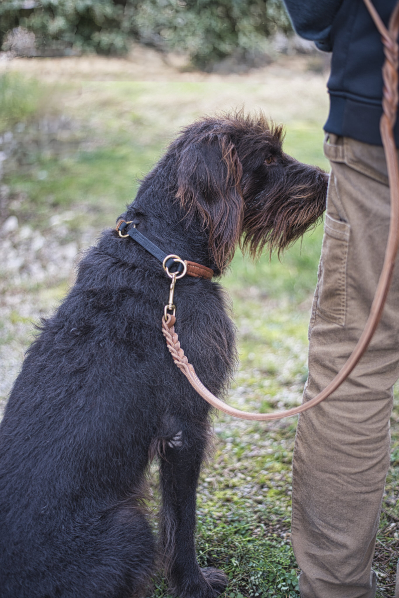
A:
<svg viewBox="0 0 399 598">
<path fill-rule="evenodd" d="M 226 58 L 259 66 L 268 36 L 290 31 L 280 0 L 144 0 L 134 25 L 142 42 L 185 51 L 203 69 Z"/>
</svg>

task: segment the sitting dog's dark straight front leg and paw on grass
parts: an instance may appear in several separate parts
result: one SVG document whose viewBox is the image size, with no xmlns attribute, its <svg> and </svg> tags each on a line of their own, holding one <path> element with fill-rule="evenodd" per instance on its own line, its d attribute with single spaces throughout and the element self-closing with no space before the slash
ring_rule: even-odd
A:
<svg viewBox="0 0 399 598">
<path fill-rule="evenodd" d="M 161 459 L 161 534 L 165 573 L 174 596 L 216 598 L 228 583 L 225 573 L 200 569 L 195 556 L 196 491 L 205 442 L 179 432 Z"/>
</svg>

